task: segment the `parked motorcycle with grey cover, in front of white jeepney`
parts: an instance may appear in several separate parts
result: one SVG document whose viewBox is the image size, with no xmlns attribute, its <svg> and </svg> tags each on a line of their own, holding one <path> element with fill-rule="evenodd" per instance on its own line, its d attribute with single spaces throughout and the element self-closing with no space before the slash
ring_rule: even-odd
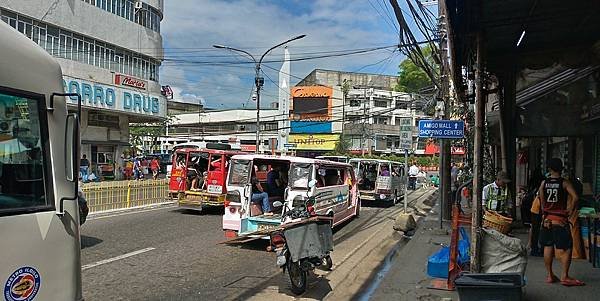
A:
<svg viewBox="0 0 600 301">
<path fill-rule="evenodd" d="M 314 202 L 314 198 L 308 198 L 304 206 L 284 211 L 281 230 L 270 235 L 277 265 L 283 272 L 287 269 L 292 292 L 296 295 L 306 291 L 309 271 L 316 267 L 326 270 L 333 267 L 331 217 L 318 216 Z"/>
</svg>

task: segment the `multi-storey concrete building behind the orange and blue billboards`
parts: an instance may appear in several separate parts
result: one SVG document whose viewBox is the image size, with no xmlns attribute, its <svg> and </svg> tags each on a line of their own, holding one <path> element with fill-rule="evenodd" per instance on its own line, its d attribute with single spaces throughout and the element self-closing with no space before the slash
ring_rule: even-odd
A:
<svg viewBox="0 0 600 301">
<path fill-rule="evenodd" d="M 422 99 L 393 91 L 397 80 L 389 75 L 312 71 L 292 89 L 291 143 L 315 135 L 337 141 L 343 133 L 354 153 L 400 151 L 400 118 L 410 117 L 416 127 L 420 119 L 431 117 L 421 110 Z M 342 92 L 344 84 L 349 88 L 346 95 Z M 415 130 L 415 143 L 417 134 Z M 419 145 L 416 153 L 423 153 L 424 143 Z M 335 143 L 329 143 L 301 149 L 312 156 L 332 151 L 334 146 Z"/>
</svg>

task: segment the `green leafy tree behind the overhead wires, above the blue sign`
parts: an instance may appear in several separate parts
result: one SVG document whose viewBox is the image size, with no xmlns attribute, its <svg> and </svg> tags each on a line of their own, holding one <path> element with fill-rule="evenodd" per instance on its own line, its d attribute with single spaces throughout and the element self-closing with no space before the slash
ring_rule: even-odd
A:
<svg viewBox="0 0 600 301">
<path fill-rule="evenodd" d="M 433 69 L 434 76 L 439 74 L 439 65 L 435 62 L 431 47 L 425 46 L 422 48 L 425 62 Z M 414 57 L 416 54 L 413 54 Z M 406 58 L 400 63 L 400 71 L 398 72 L 398 83 L 394 90 L 398 92 L 418 93 L 425 88 L 433 86 L 431 78 L 427 73 L 417 66 L 410 58 Z"/>
</svg>

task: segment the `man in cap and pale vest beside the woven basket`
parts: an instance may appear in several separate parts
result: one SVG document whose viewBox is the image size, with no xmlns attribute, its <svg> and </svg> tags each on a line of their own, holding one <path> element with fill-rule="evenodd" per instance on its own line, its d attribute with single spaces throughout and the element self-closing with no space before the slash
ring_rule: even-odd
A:
<svg viewBox="0 0 600 301">
<path fill-rule="evenodd" d="M 485 210 L 496 211 L 501 215 L 510 217 L 512 202 L 510 192 L 506 186 L 510 181 L 505 171 L 499 171 L 496 174 L 496 181 L 483 187 L 482 205 Z"/>
</svg>

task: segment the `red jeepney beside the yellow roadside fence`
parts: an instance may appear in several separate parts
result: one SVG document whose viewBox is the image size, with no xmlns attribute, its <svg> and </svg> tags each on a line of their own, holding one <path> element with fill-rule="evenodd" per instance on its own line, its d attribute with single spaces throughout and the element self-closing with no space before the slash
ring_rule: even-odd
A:
<svg viewBox="0 0 600 301">
<path fill-rule="evenodd" d="M 231 156 L 239 151 L 180 149 L 173 154 L 169 193 L 179 207 L 202 210 L 222 206 L 227 194 L 225 182 Z"/>
</svg>

